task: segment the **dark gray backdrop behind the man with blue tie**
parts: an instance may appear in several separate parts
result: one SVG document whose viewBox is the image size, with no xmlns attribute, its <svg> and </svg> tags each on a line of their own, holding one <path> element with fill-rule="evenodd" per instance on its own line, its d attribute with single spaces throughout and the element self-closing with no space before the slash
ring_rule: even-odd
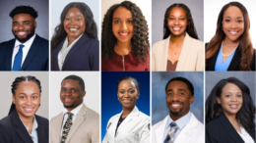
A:
<svg viewBox="0 0 256 143">
<path fill-rule="evenodd" d="M 49 39 L 49 2 L 48 0 L 1 0 L 0 4 L 0 43 L 14 38 L 12 32 L 12 18 L 9 16 L 10 12 L 17 6 L 26 5 L 31 6 L 38 13 L 35 19 L 37 27 L 35 33 L 40 37 Z"/>
</svg>

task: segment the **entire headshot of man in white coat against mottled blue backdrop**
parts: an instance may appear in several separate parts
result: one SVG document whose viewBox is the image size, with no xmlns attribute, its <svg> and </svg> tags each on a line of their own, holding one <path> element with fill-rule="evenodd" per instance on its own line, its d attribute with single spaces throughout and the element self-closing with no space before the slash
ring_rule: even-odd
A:
<svg viewBox="0 0 256 143">
<path fill-rule="evenodd" d="M 205 142 L 204 72 L 152 73 L 152 143 Z"/>
</svg>

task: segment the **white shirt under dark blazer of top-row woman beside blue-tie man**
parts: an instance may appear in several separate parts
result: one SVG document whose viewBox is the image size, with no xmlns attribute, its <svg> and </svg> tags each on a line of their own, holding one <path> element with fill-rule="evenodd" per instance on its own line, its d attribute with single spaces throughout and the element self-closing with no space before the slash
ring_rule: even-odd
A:
<svg viewBox="0 0 256 143">
<path fill-rule="evenodd" d="M 61 50 L 59 51 L 59 54 L 58 54 L 58 65 L 59 65 L 59 71 L 61 71 L 62 69 L 62 66 L 64 64 L 64 61 L 70 51 L 70 49 L 75 45 L 75 43 L 80 39 L 80 37 L 82 36 L 83 34 L 81 34 L 75 41 L 73 41 L 69 46 L 68 46 L 68 36 L 66 37 L 65 41 L 64 41 L 64 44 L 61 48 Z"/>
</svg>

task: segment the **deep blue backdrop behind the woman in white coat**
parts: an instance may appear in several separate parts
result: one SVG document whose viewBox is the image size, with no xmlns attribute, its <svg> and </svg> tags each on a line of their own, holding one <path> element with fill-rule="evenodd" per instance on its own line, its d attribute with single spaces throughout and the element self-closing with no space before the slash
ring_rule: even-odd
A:
<svg viewBox="0 0 256 143">
<path fill-rule="evenodd" d="M 139 111 L 150 116 L 150 71 L 101 71 L 101 141 L 105 136 L 108 119 L 122 112 L 117 100 L 116 83 L 123 76 L 132 76 L 141 85 L 136 106 Z"/>
</svg>

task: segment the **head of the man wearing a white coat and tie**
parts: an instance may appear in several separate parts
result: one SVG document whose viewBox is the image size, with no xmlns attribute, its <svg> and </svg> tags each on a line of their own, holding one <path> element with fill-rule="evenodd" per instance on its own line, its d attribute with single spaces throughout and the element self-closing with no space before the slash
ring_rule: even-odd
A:
<svg viewBox="0 0 256 143">
<path fill-rule="evenodd" d="M 166 89 L 166 105 L 170 118 L 180 119 L 190 110 L 190 104 L 194 102 L 187 84 L 182 81 L 171 81 Z"/>
</svg>

